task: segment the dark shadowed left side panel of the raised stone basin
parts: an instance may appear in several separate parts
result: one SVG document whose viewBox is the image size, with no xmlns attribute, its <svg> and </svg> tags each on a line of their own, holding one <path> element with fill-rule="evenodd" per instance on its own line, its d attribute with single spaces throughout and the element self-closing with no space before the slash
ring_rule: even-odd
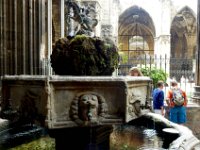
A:
<svg viewBox="0 0 200 150">
<path fill-rule="evenodd" d="M 1 117 L 11 122 L 40 123 L 47 115 L 47 78 L 44 76 L 12 76 L 2 81 Z"/>
</svg>

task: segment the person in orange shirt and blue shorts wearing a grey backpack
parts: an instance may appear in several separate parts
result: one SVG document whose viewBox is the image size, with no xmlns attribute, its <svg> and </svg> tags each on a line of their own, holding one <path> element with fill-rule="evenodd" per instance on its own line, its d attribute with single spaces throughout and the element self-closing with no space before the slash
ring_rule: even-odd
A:
<svg viewBox="0 0 200 150">
<path fill-rule="evenodd" d="M 166 102 L 169 107 L 169 119 L 177 124 L 186 122 L 187 96 L 185 91 L 178 87 L 175 80 L 171 81 L 171 89 L 167 92 Z"/>
</svg>

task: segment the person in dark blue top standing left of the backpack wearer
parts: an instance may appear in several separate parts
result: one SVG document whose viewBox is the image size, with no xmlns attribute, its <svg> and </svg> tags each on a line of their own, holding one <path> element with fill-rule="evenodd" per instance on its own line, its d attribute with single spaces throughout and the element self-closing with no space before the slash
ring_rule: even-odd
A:
<svg viewBox="0 0 200 150">
<path fill-rule="evenodd" d="M 162 116 L 165 115 L 164 109 L 164 82 L 158 81 L 157 88 L 153 90 L 153 109 L 154 112 Z"/>
</svg>

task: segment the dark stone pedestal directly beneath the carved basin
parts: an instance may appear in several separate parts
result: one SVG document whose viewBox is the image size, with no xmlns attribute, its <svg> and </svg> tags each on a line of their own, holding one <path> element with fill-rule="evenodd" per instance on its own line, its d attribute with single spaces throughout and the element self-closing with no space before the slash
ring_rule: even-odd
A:
<svg viewBox="0 0 200 150">
<path fill-rule="evenodd" d="M 76 127 L 49 130 L 55 138 L 56 150 L 109 150 L 112 126 Z"/>
</svg>

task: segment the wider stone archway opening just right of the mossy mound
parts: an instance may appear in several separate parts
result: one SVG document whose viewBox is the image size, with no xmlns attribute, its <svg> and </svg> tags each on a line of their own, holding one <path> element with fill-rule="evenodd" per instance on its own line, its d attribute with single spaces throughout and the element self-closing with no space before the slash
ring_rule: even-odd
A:
<svg viewBox="0 0 200 150">
<path fill-rule="evenodd" d="M 154 37 L 152 18 L 141 7 L 132 6 L 119 16 L 119 74 L 125 75 L 129 67 L 144 64 L 144 59 L 154 55 Z"/>
</svg>

